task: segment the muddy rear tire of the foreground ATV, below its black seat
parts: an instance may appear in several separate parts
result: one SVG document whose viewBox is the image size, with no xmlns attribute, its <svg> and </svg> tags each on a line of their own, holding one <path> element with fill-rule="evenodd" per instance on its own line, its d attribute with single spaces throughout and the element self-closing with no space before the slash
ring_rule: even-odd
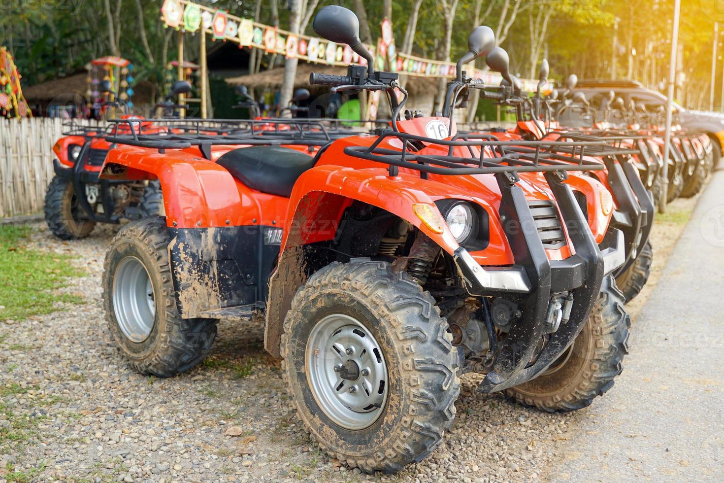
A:
<svg viewBox="0 0 724 483">
<path fill-rule="evenodd" d="M 106 321 L 119 349 L 135 370 L 156 377 L 171 377 L 197 365 L 209 354 L 216 337 L 216 319 L 182 319 L 177 311 L 169 242 L 164 218 L 130 222 L 111 241 L 102 281 Z M 150 279 L 155 306 L 151 314 L 153 327 L 145 339 L 146 332 L 130 332 L 127 322 L 123 322 L 122 311 L 130 307 L 130 302 L 127 296 L 120 300 L 119 295 L 128 293 L 124 288 L 125 270 L 140 270 L 138 262 Z"/>
</svg>

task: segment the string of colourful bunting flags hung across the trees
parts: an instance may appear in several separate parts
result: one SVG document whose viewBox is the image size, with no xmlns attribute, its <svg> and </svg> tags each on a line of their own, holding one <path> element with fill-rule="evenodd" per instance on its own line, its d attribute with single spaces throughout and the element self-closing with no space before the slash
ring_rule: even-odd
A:
<svg viewBox="0 0 724 483">
<path fill-rule="evenodd" d="M 281 54 L 287 59 L 296 58 L 316 64 L 347 67 L 349 64 L 366 64 L 366 59 L 358 56 L 347 45 L 327 41 L 310 35 L 292 34 L 287 30 L 236 17 L 224 10 L 213 9 L 195 4 L 189 0 L 164 0 L 161 7 L 161 20 L 170 27 L 195 33 L 203 29 L 214 40 L 235 42 L 239 48 L 262 49 L 270 54 Z M 416 77 L 455 77 L 455 63 L 403 54 L 395 49 L 392 34 L 392 22 L 385 19 L 379 40 L 374 46 L 366 48 L 376 53 L 376 67 L 382 68 L 389 62 L 390 70 Z M 497 72 L 476 69 L 466 65 L 467 75 L 483 79 L 491 85 L 500 83 L 502 77 Z M 521 79 L 523 89 L 534 91 L 538 81 Z"/>
</svg>

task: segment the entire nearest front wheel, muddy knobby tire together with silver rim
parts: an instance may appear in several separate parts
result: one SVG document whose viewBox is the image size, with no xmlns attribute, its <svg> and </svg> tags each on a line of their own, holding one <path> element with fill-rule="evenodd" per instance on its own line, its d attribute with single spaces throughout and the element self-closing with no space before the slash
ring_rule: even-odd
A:
<svg viewBox="0 0 724 483">
<path fill-rule="evenodd" d="M 334 262 L 298 290 L 285 317 L 283 374 L 300 419 L 329 455 L 392 473 L 437 448 L 460 378 L 434 304 L 408 274 L 369 259 Z"/>
</svg>

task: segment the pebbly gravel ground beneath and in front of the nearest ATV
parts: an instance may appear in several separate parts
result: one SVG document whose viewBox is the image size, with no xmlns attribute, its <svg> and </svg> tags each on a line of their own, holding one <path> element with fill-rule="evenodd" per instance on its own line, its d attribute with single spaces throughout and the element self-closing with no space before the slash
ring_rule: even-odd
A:
<svg viewBox="0 0 724 483">
<path fill-rule="evenodd" d="M 88 270 L 63 289 L 85 304 L 0 322 L 0 390 L 8 392 L 0 400 L 11 408 L 0 427 L 23 427 L 17 445 L 0 451 L 0 483 L 8 462 L 33 481 L 533 481 L 576 431 L 575 416 L 478 393 L 481 377 L 467 375 L 455 423 L 432 455 L 392 476 L 350 471 L 321 453 L 295 416 L 261 324 L 222 322 L 201 366 L 172 379 L 140 376 L 114 348 L 101 308 L 116 227 L 68 243 L 33 226 L 30 245 L 72 253 Z M 675 240 L 680 230 L 657 236 Z"/>
</svg>

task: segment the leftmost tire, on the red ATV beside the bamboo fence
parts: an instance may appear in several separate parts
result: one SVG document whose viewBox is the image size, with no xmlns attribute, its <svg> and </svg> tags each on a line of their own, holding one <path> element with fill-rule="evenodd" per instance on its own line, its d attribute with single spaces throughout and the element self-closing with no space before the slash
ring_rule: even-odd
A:
<svg viewBox="0 0 724 483">
<path fill-rule="evenodd" d="M 64 177 L 53 177 L 46 191 L 44 209 L 46 223 L 53 235 L 61 240 L 85 238 L 90 235 L 96 223 L 81 219 L 80 210 L 72 182 Z"/>
</svg>

